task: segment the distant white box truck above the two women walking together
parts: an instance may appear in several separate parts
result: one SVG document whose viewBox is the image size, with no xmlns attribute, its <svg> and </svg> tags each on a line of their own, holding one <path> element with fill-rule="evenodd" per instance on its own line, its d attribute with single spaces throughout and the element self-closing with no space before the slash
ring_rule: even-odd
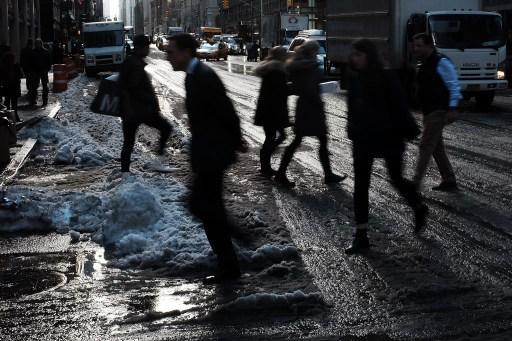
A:
<svg viewBox="0 0 512 341">
<path fill-rule="evenodd" d="M 275 45 L 290 45 L 300 31 L 307 30 L 309 17 L 291 13 L 275 13 L 264 15 L 262 21 L 261 47 L 270 48 Z"/>
</svg>

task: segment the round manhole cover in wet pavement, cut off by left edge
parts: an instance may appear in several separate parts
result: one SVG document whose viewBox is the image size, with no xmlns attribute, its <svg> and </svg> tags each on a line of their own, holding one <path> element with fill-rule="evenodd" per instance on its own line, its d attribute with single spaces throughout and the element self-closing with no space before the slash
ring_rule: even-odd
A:
<svg viewBox="0 0 512 341">
<path fill-rule="evenodd" d="M 66 281 L 66 276 L 56 271 L 0 271 L 0 298 L 16 298 L 52 290 L 66 284 Z"/>
</svg>

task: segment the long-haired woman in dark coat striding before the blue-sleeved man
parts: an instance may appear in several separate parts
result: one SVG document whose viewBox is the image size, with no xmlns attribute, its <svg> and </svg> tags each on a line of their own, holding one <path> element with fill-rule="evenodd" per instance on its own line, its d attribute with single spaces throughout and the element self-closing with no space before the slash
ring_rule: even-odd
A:
<svg viewBox="0 0 512 341">
<path fill-rule="evenodd" d="M 348 93 L 348 137 L 354 159 L 354 211 L 356 234 L 347 254 L 370 246 L 368 228 L 368 190 L 373 160 L 383 158 L 391 183 L 415 213 L 415 232 L 420 232 L 428 212 L 411 181 L 402 176 L 405 140 L 419 134 L 407 109 L 401 85 L 384 71 L 375 45 L 369 40 L 354 43 L 350 57 L 353 71 Z"/>
</svg>

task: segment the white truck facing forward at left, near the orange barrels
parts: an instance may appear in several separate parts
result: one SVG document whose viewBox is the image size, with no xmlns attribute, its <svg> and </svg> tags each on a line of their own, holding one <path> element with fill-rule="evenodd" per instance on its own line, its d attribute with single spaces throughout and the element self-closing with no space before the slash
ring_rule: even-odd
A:
<svg viewBox="0 0 512 341">
<path fill-rule="evenodd" d="M 124 24 L 121 21 L 83 24 L 85 72 L 117 71 L 124 62 Z"/>
</svg>

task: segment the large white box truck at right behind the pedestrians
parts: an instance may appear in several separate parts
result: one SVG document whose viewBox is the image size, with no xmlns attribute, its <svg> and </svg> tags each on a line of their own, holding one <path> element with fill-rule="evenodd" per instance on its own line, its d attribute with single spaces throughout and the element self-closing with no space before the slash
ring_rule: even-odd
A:
<svg viewBox="0 0 512 341">
<path fill-rule="evenodd" d="M 426 32 L 454 63 L 464 97 L 486 108 L 508 86 L 506 40 L 501 16 L 479 9 L 480 0 L 327 0 L 327 70 L 344 69 L 352 43 L 367 38 L 410 82 L 417 65 L 412 37 Z"/>
</svg>

